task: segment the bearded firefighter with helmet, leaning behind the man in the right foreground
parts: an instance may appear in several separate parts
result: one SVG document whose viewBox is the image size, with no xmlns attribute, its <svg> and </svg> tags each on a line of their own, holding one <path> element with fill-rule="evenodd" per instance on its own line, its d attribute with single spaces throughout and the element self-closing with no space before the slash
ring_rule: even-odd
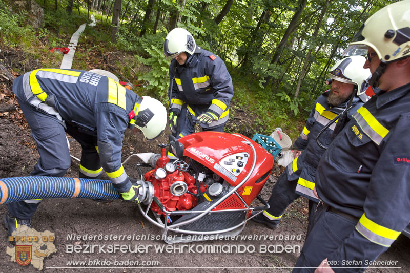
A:
<svg viewBox="0 0 410 273">
<path fill-rule="evenodd" d="M 324 92 L 315 101 L 305 127 L 294 143 L 295 159 L 286 166 L 286 170 L 273 187 L 268 201 L 270 208 L 252 218 L 254 221 L 276 228 L 286 207 L 300 195 L 309 199 L 309 219 L 313 218 L 314 210 L 319 202 L 313 194 L 315 171 L 325 151 L 316 143 L 316 137 L 320 131 L 324 130 L 326 124 L 346 109 L 348 109 L 347 118 L 351 118 L 356 110 L 367 101 L 364 91 L 367 87 L 366 79 L 371 74 L 370 70 L 363 68 L 365 61 L 366 59 L 362 56 L 347 57 L 338 61 L 330 69 L 332 89 Z M 320 136 L 321 143 L 329 145 L 332 142 L 340 119 L 336 119 L 336 122 L 324 130 Z"/>
</svg>

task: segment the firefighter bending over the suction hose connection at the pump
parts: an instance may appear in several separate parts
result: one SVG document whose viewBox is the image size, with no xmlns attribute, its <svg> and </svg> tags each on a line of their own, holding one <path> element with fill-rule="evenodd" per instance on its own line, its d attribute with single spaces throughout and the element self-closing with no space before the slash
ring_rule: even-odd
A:
<svg viewBox="0 0 410 273">
<path fill-rule="evenodd" d="M 147 139 L 159 136 L 167 124 L 161 102 L 80 70 L 37 69 L 16 78 L 13 92 L 40 155 L 31 176 L 64 176 L 71 162 L 67 133 L 81 144 L 80 178 L 99 179 L 104 170 L 122 199 L 138 203 L 138 186 L 121 164 L 122 139 L 127 127 L 138 128 Z M 9 235 L 19 225 L 31 225 L 40 201 L 8 204 Z"/>
</svg>

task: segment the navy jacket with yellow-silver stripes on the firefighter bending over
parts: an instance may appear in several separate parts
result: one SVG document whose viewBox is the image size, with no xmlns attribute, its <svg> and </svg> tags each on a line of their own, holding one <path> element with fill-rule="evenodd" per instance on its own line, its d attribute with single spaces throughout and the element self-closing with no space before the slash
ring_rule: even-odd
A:
<svg viewBox="0 0 410 273">
<path fill-rule="evenodd" d="M 121 164 L 124 132 L 139 96 L 106 76 L 81 70 L 37 69 L 15 79 L 13 92 L 80 132 L 96 136 L 104 171 L 119 192 L 131 182 Z"/>
</svg>

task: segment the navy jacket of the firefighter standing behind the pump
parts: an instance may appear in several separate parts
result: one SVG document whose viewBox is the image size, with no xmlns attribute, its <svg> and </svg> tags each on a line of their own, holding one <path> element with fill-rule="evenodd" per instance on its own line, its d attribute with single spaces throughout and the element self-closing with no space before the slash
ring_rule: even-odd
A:
<svg viewBox="0 0 410 273">
<path fill-rule="evenodd" d="M 193 120 L 205 112 L 219 117 L 209 125 L 201 123 L 204 128 L 217 127 L 228 121 L 234 90 L 231 75 L 221 58 L 197 46 L 184 65 L 172 60 L 169 73 L 170 112 L 179 113 L 182 105 L 188 103 Z"/>
</svg>

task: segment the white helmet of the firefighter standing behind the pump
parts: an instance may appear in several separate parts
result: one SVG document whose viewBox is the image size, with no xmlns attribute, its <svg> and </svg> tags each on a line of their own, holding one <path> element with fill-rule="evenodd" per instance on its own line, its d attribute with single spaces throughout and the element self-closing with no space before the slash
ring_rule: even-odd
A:
<svg viewBox="0 0 410 273">
<path fill-rule="evenodd" d="M 195 52 L 195 39 L 188 30 L 182 28 L 174 28 L 171 30 L 165 42 L 163 43 L 163 54 L 167 60 L 170 60 L 182 52 L 187 52 L 192 55 Z"/>
</svg>

